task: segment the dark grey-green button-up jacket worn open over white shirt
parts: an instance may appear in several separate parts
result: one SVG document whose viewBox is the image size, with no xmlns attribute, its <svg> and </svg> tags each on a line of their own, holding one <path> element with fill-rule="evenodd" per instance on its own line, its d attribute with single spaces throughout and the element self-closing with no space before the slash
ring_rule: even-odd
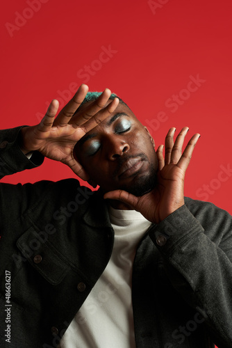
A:
<svg viewBox="0 0 232 348">
<path fill-rule="evenodd" d="M 17 132 L 0 134 L 1 177 L 42 163 L 22 154 Z M 74 179 L 2 183 L 0 204 L 0 347 L 56 347 L 110 259 L 106 204 Z M 232 347 L 231 222 L 186 198 L 149 228 L 133 264 L 136 347 Z"/>
</svg>

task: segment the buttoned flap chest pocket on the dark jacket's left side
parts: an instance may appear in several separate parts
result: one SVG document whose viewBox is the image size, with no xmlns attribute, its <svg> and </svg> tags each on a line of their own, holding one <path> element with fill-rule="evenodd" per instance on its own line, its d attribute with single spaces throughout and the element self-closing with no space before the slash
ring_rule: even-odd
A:
<svg viewBox="0 0 232 348">
<path fill-rule="evenodd" d="M 24 258 L 51 285 L 58 285 L 69 269 L 63 255 L 49 242 L 48 235 L 41 235 L 31 227 L 17 240 L 17 247 Z"/>
</svg>

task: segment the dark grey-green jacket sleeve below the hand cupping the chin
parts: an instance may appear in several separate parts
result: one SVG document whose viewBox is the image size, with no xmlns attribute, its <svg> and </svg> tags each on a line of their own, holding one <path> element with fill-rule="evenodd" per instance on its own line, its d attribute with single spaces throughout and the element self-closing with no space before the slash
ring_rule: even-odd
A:
<svg viewBox="0 0 232 348">
<path fill-rule="evenodd" d="M 187 203 L 153 226 L 149 236 L 172 285 L 204 323 L 218 347 L 232 345 L 232 218 L 212 203 Z"/>
</svg>

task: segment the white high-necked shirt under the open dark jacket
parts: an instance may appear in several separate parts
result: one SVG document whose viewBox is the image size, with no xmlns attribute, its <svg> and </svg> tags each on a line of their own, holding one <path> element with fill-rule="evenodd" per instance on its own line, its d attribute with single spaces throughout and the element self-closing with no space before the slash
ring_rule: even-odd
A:
<svg viewBox="0 0 232 348">
<path fill-rule="evenodd" d="M 81 306 L 61 348 L 134 348 L 131 301 L 133 260 L 140 239 L 151 225 L 135 210 L 109 207 L 115 242 L 110 261 Z"/>
</svg>

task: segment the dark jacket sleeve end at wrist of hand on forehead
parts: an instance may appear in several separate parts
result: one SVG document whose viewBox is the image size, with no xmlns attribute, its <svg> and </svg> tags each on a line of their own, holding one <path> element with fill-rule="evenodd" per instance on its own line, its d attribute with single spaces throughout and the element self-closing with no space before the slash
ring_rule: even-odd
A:
<svg viewBox="0 0 232 348">
<path fill-rule="evenodd" d="M 40 166 L 44 156 L 35 151 L 28 159 L 19 148 L 19 132 L 22 127 L 4 129 L 0 132 L 0 178 L 5 175 Z"/>
</svg>

